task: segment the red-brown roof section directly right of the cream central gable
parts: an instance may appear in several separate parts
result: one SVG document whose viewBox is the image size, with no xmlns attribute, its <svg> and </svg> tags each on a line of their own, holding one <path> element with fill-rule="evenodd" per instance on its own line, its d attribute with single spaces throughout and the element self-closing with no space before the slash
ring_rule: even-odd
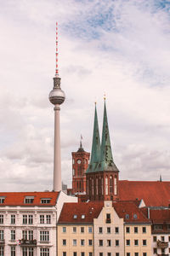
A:
<svg viewBox="0 0 170 256">
<path fill-rule="evenodd" d="M 137 201 L 138 202 L 138 201 Z M 145 217 L 144 213 L 138 207 L 136 201 L 114 201 L 113 207 L 116 210 L 119 218 L 124 218 L 127 223 L 150 223 L 150 220 Z M 128 214 L 129 218 L 126 218 Z M 134 214 L 137 218 L 134 218 Z"/>
</svg>

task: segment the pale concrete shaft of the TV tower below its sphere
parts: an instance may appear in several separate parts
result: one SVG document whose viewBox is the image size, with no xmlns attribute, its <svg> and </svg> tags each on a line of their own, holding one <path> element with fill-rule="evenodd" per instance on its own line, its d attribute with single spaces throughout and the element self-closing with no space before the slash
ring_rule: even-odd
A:
<svg viewBox="0 0 170 256">
<path fill-rule="evenodd" d="M 54 106 L 54 191 L 62 189 L 59 111 L 60 108 L 57 104 Z"/>
</svg>

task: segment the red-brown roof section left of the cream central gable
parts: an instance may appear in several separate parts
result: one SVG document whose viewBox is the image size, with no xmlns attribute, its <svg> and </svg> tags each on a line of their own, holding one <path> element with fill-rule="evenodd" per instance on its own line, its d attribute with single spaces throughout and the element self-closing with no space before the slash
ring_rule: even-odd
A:
<svg viewBox="0 0 170 256">
<path fill-rule="evenodd" d="M 65 203 L 59 216 L 59 224 L 93 223 L 104 204 L 101 201 Z M 77 215 L 77 218 L 74 218 Z M 85 215 L 85 218 L 82 218 Z"/>
</svg>

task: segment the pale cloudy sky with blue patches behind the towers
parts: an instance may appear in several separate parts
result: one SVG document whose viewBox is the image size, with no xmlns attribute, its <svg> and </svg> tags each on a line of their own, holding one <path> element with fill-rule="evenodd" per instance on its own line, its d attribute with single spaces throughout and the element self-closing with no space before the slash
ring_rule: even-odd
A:
<svg viewBox="0 0 170 256">
<path fill-rule="evenodd" d="M 1 191 L 52 189 L 56 21 L 64 183 L 104 94 L 120 178 L 170 180 L 170 1 L 0 0 Z"/>
</svg>

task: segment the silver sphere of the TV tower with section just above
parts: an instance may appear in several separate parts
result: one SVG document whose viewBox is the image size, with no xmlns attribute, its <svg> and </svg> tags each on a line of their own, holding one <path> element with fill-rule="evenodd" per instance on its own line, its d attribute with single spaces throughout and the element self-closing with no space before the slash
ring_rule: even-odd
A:
<svg viewBox="0 0 170 256">
<path fill-rule="evenodd" d="M 60 78 L 54 78 L 54 88 L 49 93 L 49 101 L 54 105 L 65 102 L 65 92 L 60 89 Z"/>
</svg>

